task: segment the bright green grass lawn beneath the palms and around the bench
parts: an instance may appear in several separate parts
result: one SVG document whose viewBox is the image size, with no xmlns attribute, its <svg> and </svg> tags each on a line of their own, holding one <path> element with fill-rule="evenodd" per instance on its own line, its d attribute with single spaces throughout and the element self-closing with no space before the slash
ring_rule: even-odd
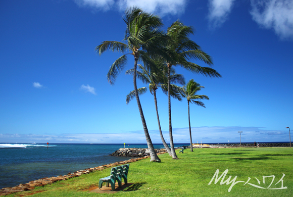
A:
<svg viewBox="0 0 293 197">
<path fill-rule="evenodd" d="M 293 196 L 293 149 L 288 147 L 267 148 L 233 148 L 233 149 L 194 149 L 184 150 L 179 154 L 179 160 L 172 160 L 168 154 L 159 155 L 162 163 L 151 163 L 150 158 L 130 163 L 128 182 L 131 187 L 116 193 L 90 193 L 90 186 L 98 185 L 99 179 L 109 176 L 110 168 L 96 171 L 66 181 L 56 182 L 32 191 L 14 193 L 8 196 Z M 209 185 L 216 170 L 219 176 L 228 169 L 224 181 L 236 177 L 236 183 L 228 192 L 229 185 L 215 179 Z M 262 189 L 246 185 L 249 183 L 267 188 L 272 177 L 275 179 L 269 188 L 280 188 L 283 177 L 283 187 L 287 189 Z M 260 181 L 258 183 L 257 179 Z M 230 180 L 230 181 L 231 181 Z M 35 193 L 36 191 L 42 191 Z"/>
</svg>

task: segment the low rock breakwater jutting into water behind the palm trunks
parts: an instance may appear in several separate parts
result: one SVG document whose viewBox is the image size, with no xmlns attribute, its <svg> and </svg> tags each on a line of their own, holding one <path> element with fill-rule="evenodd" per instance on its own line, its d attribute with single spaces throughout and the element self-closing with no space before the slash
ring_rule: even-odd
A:
<svg viewBox="0 0 293 197">
<path fill-rule="evenodd" d="M 155 149 L 156 153 L 167 153 L 166 149 Z M 136 148 L 121 148 L 110 156 L 116 157 L 145 157 L 150 156 L 150 151 L 148 149 L 136 149 Z"/>
</svg>

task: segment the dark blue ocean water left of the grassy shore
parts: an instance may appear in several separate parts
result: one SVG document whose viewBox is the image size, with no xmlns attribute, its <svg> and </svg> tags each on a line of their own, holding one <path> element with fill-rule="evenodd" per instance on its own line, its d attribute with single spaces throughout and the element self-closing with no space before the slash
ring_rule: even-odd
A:
<svg viewBox="0 0 293 197">
<path fill-rule="evenodd" d="M 154 146 L 155 149 L 164 147 L 163 144 Z M 0 143 L 0 189 L 130 159 L 109 156 L 121 147 L 123 144 L 50 143 L 47 149 L 45 143 Z M 148 146 L 126 144 L 125 147 Z"/>
</svg>

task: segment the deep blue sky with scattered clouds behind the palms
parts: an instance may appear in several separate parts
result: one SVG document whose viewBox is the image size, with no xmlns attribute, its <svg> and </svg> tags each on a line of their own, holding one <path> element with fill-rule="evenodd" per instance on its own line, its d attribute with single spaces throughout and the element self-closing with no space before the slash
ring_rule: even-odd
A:
<svg viewBox="0 0 293 197">
<path fill-rule="evenodd" d="M 115 85 L 106 74 L 122 54 L 95 53 L 121 41 L 128 6 L 180 19 L 190 38 L 212 56 L 222 78 L 180 67 L 186 81 L 205 86 L 206 108 L 191 105 L 193 142 L 289 141 L 292 127 L 293 2 L 289 0 L 10 0 L 0 1 L 0 142 L 145 143 L 133 90 L 124 70 Z M 201 66 L 202 62 L 194 61 Z M 133 67 L 132 57 L 126 69 Z M 145 86 L 138 82 L 138 87 Z M 160 143 L 153 95 L 141 97 L 146 124 Z M 168 98 L 158 91 L 169 142 Z M 188 143 L 187 102 L 171 100 L 175 143 Z"/>
</svg>

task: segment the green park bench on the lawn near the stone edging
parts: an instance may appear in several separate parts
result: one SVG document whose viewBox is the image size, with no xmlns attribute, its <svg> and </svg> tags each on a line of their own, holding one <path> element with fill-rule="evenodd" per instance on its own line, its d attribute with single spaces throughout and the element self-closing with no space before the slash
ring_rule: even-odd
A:
<svg viewBox="0 0 293 197">
<path fill-rule="evenodd" d="M 124 179 L 124 184 L 127 184 L 127 175 L 128 175 L 129 164 L 123 166 L 117 166 L 111 169 L 110 176 L 105 178 L 100 178 L 99 188 L 102 188 L 102 184 L 105 182 L 106 187 L 109 187 L 109 183 L 111 184 L 111 190 L 115 190 L 115 182 L 117 180 L 118 186 L 122 186 L 122 178 Z"/>
</svg>

